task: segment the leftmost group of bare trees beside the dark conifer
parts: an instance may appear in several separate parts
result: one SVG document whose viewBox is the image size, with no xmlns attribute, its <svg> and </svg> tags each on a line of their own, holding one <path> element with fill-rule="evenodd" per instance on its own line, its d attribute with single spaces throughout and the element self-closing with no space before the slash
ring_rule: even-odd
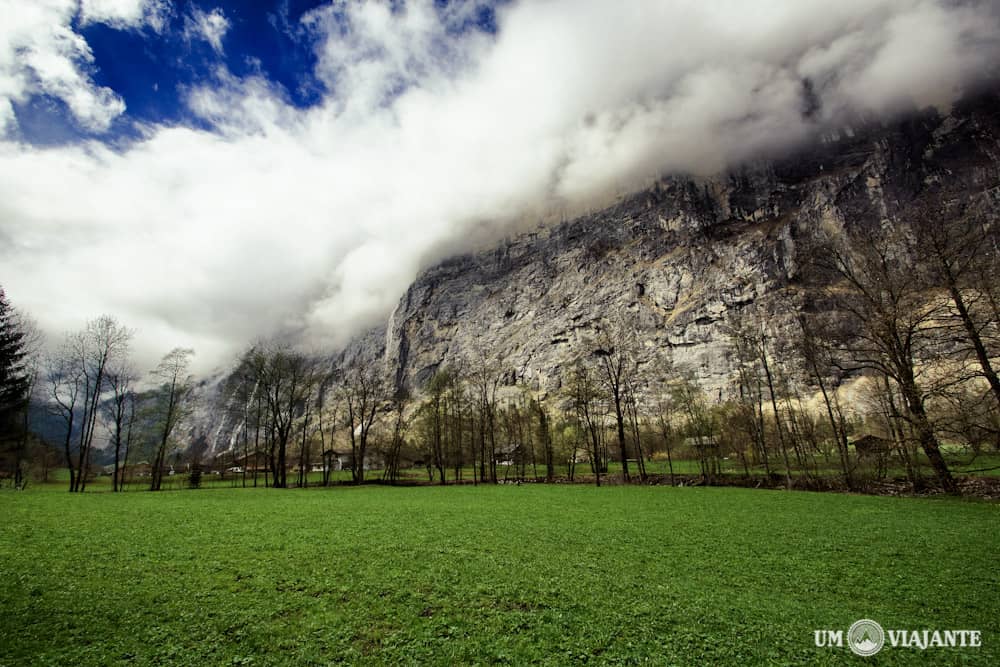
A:
<svg viewBox="0 0 1000 667">
<path fill-rule="evenodd" d="M 113 453 L 113 491 L 137 455 L 153 459 L 149 488 L 162 487 L 168 451 L 193 407 L 193 351 L 174 349 L 143 375 L 131 359 L 134 333 L 103 315 L 46 347 L 0 289 L 0 474 L 15 488 L 28 483 L 29 467 L 42 480 L 62 467 L 69 491 L 84 492 L 102 445 Z"/>
</svg>

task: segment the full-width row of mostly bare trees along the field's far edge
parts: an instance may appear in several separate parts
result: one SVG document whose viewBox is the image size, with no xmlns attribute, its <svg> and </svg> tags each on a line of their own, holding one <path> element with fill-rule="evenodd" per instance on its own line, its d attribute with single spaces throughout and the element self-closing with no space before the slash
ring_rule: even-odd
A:
<svg viewBox="0 0 1000 667">
<path fill-rule="evenodd" d="M 275 488 L 308 486 L 314 468 L 330 484 L 339 467 L 354 483 L 739 478 L 863 490 L 895 469 L 914 489 L 958 493 L 949 451 L 1000 449 L 1000 243 L 981 198 L 932 194 L 903 222 L 848 221 L 802 240 L 786 285 L 730 308 L 720 348 L 731 372 L 711 393 L 695 369 L 650 353 L 625 311 L 595 323 L 547 392 L 484 352 L 446 360 L 411 395 L 379 360 L 261 341 L 217 397 L 224 437 L 192 446 L 190 430 L 178 435 L 192 409 L 190 350 L 140 381 L 132 332 L 102 317 L 31 361 L 6 301 L 4 386 L 41 395 L 61 419 L 73 491 L 86 488 L 103 429 L 115 489 L 140 451 L 152 489 L 168 455 L 185 452 L 196 467 L 228 457 L 239 483 Z M 11 415 L 24 411 L 7 395 L 5 433 L 15 433 Z"/>
</svg>

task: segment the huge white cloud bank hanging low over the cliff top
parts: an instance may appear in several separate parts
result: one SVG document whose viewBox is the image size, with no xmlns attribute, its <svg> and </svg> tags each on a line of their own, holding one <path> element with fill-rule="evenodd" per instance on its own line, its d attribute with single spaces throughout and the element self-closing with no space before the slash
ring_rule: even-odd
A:
<svg viewBox="0 0 1000 667">
<path fill-rule="evenodd" d="M 89 50 L 51 11 L 50 78 L 84 90 L 82 117 L 114 111 L 72 77 Z M 222 69 L 188 91 L 211 132 L 151 127 L 120 152 L 0 144 L 9 297 L 52 330 L 115 313 L 150 355 L 193 346 L 202 364 L 285 329 L 343 342 L 443 249 L 518 215 L 714 171 L 847 112 L 947 105 L 1000 54 L 985 1 L 553 0 L 502 10 L 495 38 L 450 34 L 470 10 L 447 11 L 307 15 L 329 89 L 309 110 Z M 31 71 L 0 61 L 0 93 Z"/>
</svg>

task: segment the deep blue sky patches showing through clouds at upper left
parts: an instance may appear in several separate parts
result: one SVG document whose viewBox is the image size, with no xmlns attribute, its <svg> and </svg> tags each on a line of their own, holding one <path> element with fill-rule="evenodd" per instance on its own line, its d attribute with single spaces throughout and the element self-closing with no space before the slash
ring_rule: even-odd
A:
<svg viewBox="0 0 1000 667">
<path fill-rule="evenodd" d="M 89 131 L 74 122 L 60 100 L 40 95 L 17 105 L 19 137 L 45 145 L 97 136 L 107 141 L 128 140 L 135 137 L 137 122 L 204 127 L 186 106 L 184 91 L 212 85 L 220 66 L 236 77 L 267 78 L 297 108 L 318 104 L 329 92 L 314 75 L 316 42 L 322 36 L 301 20 L 328 4 L 325 0 L 176 0 L 164 16 L 164 25 L 156 29 L 82 25 L 78 13 L 72 25 L 93 53 L 91 78 L 96 85 L 115 91 L 125 102 L 126 113 L 106 131 Z M 456 37 L 470 30 L 493 34 L 496 7 L 503 4 L 505 0 L 478 3 L 467 19 L 449 30 Z M 448 3 L 438 0 L 435 5 L 446 9 Z M 393 10 L 405 11 L 405 5 L 394 3 Z M 197 18 L 212 14 L 225 25 L 217 46 L 196 30 Z"/>
</svg>

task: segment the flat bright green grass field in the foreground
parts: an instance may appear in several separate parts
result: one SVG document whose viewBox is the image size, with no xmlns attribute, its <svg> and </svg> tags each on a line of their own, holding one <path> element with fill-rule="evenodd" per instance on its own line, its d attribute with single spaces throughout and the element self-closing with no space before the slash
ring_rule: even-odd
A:
<svg viewBox="0 0 1000 667">
<path fill-rule="evenodd" d="M 522 485 L 0 493 L 0 664 L 1000 664 L 1000 505 Z M 977 629 L 978 649 L 813 630 Z"/>
</svg>

